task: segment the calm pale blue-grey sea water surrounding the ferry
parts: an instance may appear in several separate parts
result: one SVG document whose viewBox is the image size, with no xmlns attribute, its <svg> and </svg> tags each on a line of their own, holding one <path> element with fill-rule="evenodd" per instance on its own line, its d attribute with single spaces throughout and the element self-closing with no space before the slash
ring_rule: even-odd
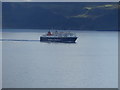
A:
<svg viewBox="0 0 120 90">
<path fill-rule="evenodd" d="M 43 33 L 3 32 L 3 88 L 118 87 L 118 32 L 76 31 L 74 44 Z"/>
</svg>

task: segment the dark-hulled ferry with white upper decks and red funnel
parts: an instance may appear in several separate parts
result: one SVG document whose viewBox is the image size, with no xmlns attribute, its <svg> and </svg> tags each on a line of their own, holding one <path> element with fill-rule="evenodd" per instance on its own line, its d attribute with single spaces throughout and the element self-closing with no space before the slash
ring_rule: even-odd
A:
<svg viewBox="0 0 120 90">
<path fill-rule="evenodd" d="M 75 43 L 77 37 L 71 32 L 50 32 L 40 36 L 41 42 L 63 42 L 63 43 Z"/>
</svg>

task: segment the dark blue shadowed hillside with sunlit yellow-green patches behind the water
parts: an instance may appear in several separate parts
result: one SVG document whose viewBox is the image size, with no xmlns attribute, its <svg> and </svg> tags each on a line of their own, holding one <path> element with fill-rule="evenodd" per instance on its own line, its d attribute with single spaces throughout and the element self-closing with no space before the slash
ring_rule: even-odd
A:
<svg viewBox="0 0 120 90">
<path fill-rule="evenodd" d="M 117 30 L 113 2 L 3 2 L 4 29 Z"/>
</svg>

